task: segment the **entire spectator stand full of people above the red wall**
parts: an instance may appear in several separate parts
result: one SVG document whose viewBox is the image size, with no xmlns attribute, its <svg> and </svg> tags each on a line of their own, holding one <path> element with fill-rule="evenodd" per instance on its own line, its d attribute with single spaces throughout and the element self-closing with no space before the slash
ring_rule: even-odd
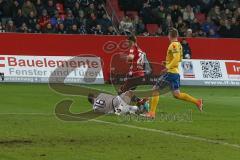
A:
<svg viewBox="0 0 240 160">
<path fill-rule="evenodd" d="M 0 32 L 240 37 L 238 0 L 0 0 Z"/>
</svg>

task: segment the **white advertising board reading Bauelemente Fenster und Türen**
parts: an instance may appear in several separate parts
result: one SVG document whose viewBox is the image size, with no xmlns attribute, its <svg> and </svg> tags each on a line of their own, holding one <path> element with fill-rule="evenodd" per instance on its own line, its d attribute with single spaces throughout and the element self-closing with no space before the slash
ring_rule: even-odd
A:
<svg viewBox="0 0 240 160">
<path fill-rule="evenodd" d="M 104 83 L 99 57 L 0 55 L 0 72 L 5 82 Z"/>
</svg>

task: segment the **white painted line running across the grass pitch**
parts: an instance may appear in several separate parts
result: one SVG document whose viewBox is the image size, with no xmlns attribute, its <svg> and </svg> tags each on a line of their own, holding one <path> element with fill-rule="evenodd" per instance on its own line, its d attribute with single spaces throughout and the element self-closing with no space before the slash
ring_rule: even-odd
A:
<svg viewBox="0 0 240 160">
<path fill-rule="evenodd" d="M 55 114 L 47 114 L 47 113 L 0 113 L 0 115 L 55 116 Z M 64 115 L 64 114 L 61 114 L 61 115 Z M 77 118 L 77 117 L 71 116 L 71 115 L 65 115 L 65 116 Z M 82 119 L 81 117 L 79 117 L 79 118 Z M 88 121 L 97 122 L 97 123 L 104 123 L 104 124 L 109 124 L 109 125 L 113 125 L 113 126 L 122 126 L 122 127 L 138 129 L 138 130 L 148 131 L 148 132 L 161 133 L 161 134 L 168 135 L 168 136 L 175 136 L 175 137 L 179 137 L 179 138 L 191 139 L 191 140 L 202 141 L 202 142 L 212 143 L 212 144 L 219 144 L 219 145 L 224 145 L 224 146 L 229 146 L 229 147 L 232 147 L 232 148 L 240 149 L 240 145 L 239 144 L 232 144 L 232 143 L 222 142 L 222 141 L 218 141 L 218 140 L 211 140 L 211 139 L 204 138 L 204 137 L 184 135 L 184 134 L 173 133 L 173 132 L 164 131 L 164 130 L 160 130 L 160 129 L 139 127 L 139 126 L 129 125 L 129 124 L 120 124 L 120 123 L 102 121 L 102 120 L 97 120 L 97 119 L 91 119 L 91 120 L 88 120 Z"/>
</svg>

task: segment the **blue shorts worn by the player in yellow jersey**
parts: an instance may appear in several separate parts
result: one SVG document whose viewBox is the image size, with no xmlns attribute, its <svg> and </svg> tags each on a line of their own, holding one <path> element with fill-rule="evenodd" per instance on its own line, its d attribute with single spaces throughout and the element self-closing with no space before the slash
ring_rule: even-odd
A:
<svg viewBox="0 0 240 160">
<path fill-rule="evenodd" d="M 162 88 L 167 82 L 172 91 L 179 90 L 180 88 L 180 75 L 178 73 L 165 73 L 160 76 L 155 87 Z"/>
</svg>

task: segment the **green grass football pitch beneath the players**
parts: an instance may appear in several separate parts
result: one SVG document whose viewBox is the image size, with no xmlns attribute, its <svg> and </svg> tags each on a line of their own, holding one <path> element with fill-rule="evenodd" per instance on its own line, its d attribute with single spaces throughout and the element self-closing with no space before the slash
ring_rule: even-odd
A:
<svg viewBox="0 0 240 160">
<path fill-rule="evenodd" d="M 113 91 L 110 85 L 92 87 Z M 182 87 L 204 99 L 204 112 L 170 94 L 160 97 L 156 121 L 107 115 L 65 122 L 54 106 L 73 99 L 72 112 L 89 110 L 87 99 L 60 95 L 46 84 L 0 84 L 0 160 L 239 160 L 240 88 Z M 162 113 L 191 112 L 191 121 Z"/>
</svg>

